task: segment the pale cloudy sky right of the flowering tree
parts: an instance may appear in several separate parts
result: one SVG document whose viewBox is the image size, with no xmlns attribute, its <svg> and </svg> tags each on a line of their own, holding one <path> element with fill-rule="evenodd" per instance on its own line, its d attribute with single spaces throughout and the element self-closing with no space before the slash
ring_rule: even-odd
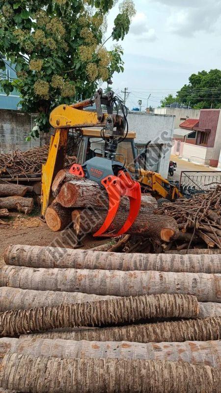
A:
<svg viewBox="0 0 221 393">
<path fill-rule="evenodd" d="M 129 109 L 157 107 L 167 94 L 176 94 L 198 71 L 221 69 L 221 0 L 134 0 L 137 14 L 129 33 L 119 41 L 124 73 L 114 73 L 113 90 Z M 118 3 L 119 4 L 119 3 Z M 108 15 L 111 34 L 118 4 Z M 109 34 L 109 35 L 108 35 Z M 111 40 L 108 49 L 111 48 Z"/>
</svg>

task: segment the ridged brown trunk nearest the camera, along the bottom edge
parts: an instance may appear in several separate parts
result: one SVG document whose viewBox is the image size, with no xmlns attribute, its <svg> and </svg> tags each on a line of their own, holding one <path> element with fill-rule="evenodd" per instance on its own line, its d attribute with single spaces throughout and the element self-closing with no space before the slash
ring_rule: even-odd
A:
<svg viewBox="0 0 221 393">
<path fill-rule="evenodd" d="M 185 362 L 9 353 L 1 364 L 0 386 L 36 393 L 220 393 L 220 370 Z"/>
</svg>

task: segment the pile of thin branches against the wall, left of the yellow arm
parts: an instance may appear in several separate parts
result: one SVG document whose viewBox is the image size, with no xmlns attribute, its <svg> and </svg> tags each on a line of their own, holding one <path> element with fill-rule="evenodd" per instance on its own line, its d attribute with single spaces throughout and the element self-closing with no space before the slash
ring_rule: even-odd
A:
<svg viewBox="0 0 221 393">
<path fill-rule="evenodd" d="M 8 154 L 0 154 L 0 178 L 17 179 L 41 174 L 42 164 L 48 158 L 49 145 L 34 147 L 27 151 L 14 150 Z M 70 167 L 71 157 L 66 157 L 65 166 Z"/>
</svg>

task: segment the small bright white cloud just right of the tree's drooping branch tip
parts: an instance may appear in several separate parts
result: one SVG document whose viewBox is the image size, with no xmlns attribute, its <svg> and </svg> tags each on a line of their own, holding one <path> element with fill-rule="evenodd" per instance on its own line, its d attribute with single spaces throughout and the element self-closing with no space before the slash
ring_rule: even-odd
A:
<svg viewBox="0 0 221 393">
<path fill-rule="evenodd" d="M 130 33 L 142 41 L 153 42 L 157 39 L 155 30 L 148 27 L 147 16 L 143 12 L 138 12 L 133 17 Z"/>
</svg>

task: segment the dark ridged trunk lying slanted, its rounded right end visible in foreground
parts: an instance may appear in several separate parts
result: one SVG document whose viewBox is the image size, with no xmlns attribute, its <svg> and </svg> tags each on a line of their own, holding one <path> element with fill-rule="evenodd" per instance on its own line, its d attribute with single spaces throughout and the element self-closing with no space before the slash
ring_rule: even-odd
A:
<svg viewBox="0 0 221 393">
<path fill-rule="evenodd" d="M 61 304 L 0 313 L 0 335 L 15 336 L 78 326 L 118 325 L 150 318 L 196 318 L 197 314 L 196 298 L 183 295 L 151 295 Z"/>
</svg>

